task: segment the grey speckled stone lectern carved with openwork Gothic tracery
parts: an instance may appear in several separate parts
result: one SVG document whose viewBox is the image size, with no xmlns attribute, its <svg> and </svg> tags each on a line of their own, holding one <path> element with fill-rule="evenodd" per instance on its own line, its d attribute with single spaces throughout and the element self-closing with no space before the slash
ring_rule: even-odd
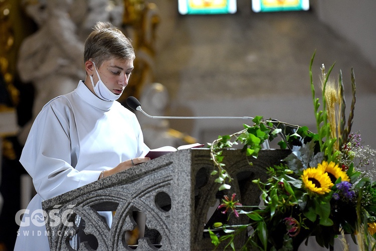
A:
<svg viewBox="0 0 376 251">
<path fill-rule="evenodd" d="M 72 236 L 76 233 L 95 242 L 93 247 L 82 238 L 79 250 L 212 250 L 214 245 L 205 229 L 224 214 L 215 210 L 208 213 L 213 212 L 210 209 L 224 194 L 230 197 L 234 192 L 243 204 L 258 205 L 260 192 L 252 180 L 265 180 L 265 168 L 288 154 L 285 150 L 262 150 L 258 159 L 251 159 L 251 166 L 241 150 L 225 150 L 224 163 L 234 180 L 230 190 L 221 192 L 220 184 L 214 182 L 217 177 L 211 176 L 215 167 L 210 150 L 188 149 L 44 201 L 51 250 L 73 250 Z M 100 211 L 112 212 L 111 227 Z M 144 237 L 137 245 L 128 245 L 125 236 L 136 226 L 137 211 L 146 215 Z M 78 218 L 85 222 L 81 233 Z M 247 223 L 246 218 L 230 223 Z"/>
</svg>

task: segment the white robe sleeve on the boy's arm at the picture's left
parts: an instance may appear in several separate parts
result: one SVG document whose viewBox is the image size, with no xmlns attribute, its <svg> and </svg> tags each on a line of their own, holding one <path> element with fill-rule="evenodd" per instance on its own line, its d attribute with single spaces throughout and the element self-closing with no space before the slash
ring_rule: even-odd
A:
<svg viewBox="0 0 376 251">
<path fill-rule="evenodd" d="M 23 149 L 20 162 L 44 200 L 96 181 L 100 175 L 101 170 L 72 167 L 70 126 L 67 114 L 47 105 L 34 121 Z"/>
</svg>

